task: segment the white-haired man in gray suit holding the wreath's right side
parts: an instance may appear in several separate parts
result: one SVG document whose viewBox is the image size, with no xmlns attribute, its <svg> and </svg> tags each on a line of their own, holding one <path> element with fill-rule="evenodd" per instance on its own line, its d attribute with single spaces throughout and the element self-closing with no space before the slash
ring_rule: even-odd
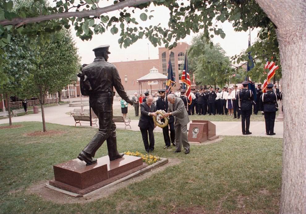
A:
<svg viewBox="0 0 306 214">
<path fill-rule="evenodd" d="M 167 98 L 169 102 L 168 113 L 164 114 L 164 117 L 168 117 L 169 115 L 174 116 L 176 144 L 176 150 L 174 153 L 181 152 L 183 144 L 185 154 L 188 154 L 190 152 L 187 133 L 187 124 L 189 123 L 188 112 L 181 98 L 175 97 L 174 94 L 169 94 Z"/>
</svg>

